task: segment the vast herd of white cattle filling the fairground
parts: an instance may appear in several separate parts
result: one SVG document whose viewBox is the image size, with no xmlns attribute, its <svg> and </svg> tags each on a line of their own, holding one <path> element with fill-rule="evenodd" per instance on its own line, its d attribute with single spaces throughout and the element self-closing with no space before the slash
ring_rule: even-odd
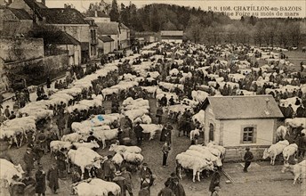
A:
<svg viewBox="0 0 306 196">
<path fill-rule="evenodd" d="M 260 55 L 259 55 L 260 53 Z M 231 56 L 230 61 L 229 56 Z M 253 59 L 267 61 L 267 64 L 258 67 Z M 140 61 L 133 63 L 134 61 Z M 108 76 L 109 73 L 120 72 L 119 64 L 129 64 L 130 71 L 119 76 L 116 85 L 103 88 L 101 94 L 93 94 L 90 100 L 82 100 L 71 104 L 76 95 L 82 94 L 84 89 L 93 87 L 93 81 Z M 132 65 L 133 63 L 133 65 Z M 267 52 L 261 48 L 232 45 L 174 45 L 174 44 L 152 44 L 145 46 L 141 54 L 133 54 L 120 61 L 105 64 L 101 69 L 91 75 L 74 81 L 68 89 L 55 91 L 48 100 L 29 102 L 24 108 L 18 110 L 18 117 L 5 121 L 0 129 L 0 138 L 9 139 L 10 143 L 16 143 L 20 147 L 24 138 L 28 141 L 27 132 L 36 133 L 36 123 L 46 119 L 52 127 L 53 110 L 50 106 L 65 104 L 68 107 L 66 112 L 73 110 L 90 110 L 93 107 L 101 107 L 107 97 L 121 92 L 133 91 L 136 87 L 152 94 L 157 99 L 158 106 L 162 97 L 167 100 L 173 98 L 174 104 L 167 102 L 163 108 L 167 115 L 176 113 L 177 119 L 182 118 L 185 110 L 193 112 L 193 123 L 199 123 L 197 128 L 204 127 L 203 110 L 196 110 L 197 105 L 203 102 L 209 95 L 254 95 L 273 94 L 280 104 L 285 107 L 294 106 L 296 99 L 303 101 L 306 86 L 302 85 L 296 76 L 296 72 L 290 71 L 287 67 L 293 64 L 281 59 L 280 53 Z M 121 66 L 122 67 L 122 66 Z M 135 73 L 135 74 L 133 74 Z M 154 86 L 140 86 L 143 81 L 157 81 L 151 83 Z M 191 89 L 189 88 L 191 85 Z M 302 92 L 302 96 L 298 96 Z M 284 95 L 286 94 L 286 95 Z M 107 141 L 117 139 L 120 121 L 128 118 L 133 125 L 141 123 L 143 133 L 149 134 L 149 139 L 154 139 L 163 128 L 162 125 L 154 124 L 152 120 L 153 111 L 149 107 L 149 101 L 139 97 L 125 97 L 122 100 L 121 110 L 118 113 L 92 115 L 87 120 L 73 122 L 72 133 L 63 135 L 60 140 L 52 141 L 50 147 L 52 152 L 66 151 L 68 160 L 81 168 L 82 179 L 85 169 L 90 171 L 92 167 L 101 167 L 101 163 L 107 158 L 101 156 L 93 149 L 100 148 L 96 142 L 85 143 L 87 137 L 93 135 L 102 143 L 102 148 L 107 146 Z M 295 107 L 295 106 L 294 106 Z M 296 112 L 297 106 L 294 108 Z M 293 115 L 294 117 L 294 115 Z M 306 118 L 288 118 L 286 125 L 298 127 Z M 306 123 L 303 124 L 306 126 Z M 191 130 L 189 130 L 191 131 Z M 200 130 L 201 131 L 201 130 Z M 283 136 L 286 127 L 278 128 L 278 134 Z M 285 133 L 286 135 L 286 133 Z M 73 148 L 74 147 L 74 148 Z M 144 158 L 141 155 L 141 148 L 137 146 L 125 146 L 113 143 L 109 151 L 115 151 L 112 160 L 120 165 L 124 160 L 131 164 L 141 166 Z M 290 144 L 286 140 L 272 144 L 264 151 L 263 159 L 270 157 L 274 165 L 276 156 L 283 153 L 286 164 L 283 171 L 290 169 L 296 176 L 305 176 L 305 160 L 294 166 L 289 166 L 287 160 L 297 151 L 296 144 Z M 188 150 L 176 156 L 178 167 L 193 170 L 193 181 L 196 177 L 199 181 L 199 173 L 203 170 L 213 170 L 213 166 L 221 167 L 225 156 L 225 148 L 216 143 L 205 145 L 191 145 Z M 1 167 L 7 168 L 1 173 L 1 179 L 11 182 L 12 176 L 22 175 L 22 168 L 13 165 L 11 162 L 1 159 Z M 181 172 L 181 169 L 178 169 Z M 179 173 L 181 176 L 181 173 Z M 294 177 L 294 183 L 297 177 Z M 85 195 L 82 190 L 94 190 L 95 192 L 112 192 L 118 195 L 120 188 L 117 184 L 106 182 L 100 179 L 82 181 L 75 184 L 78 195 Z M 93 192 L 94 192 L 93 191 Z"/>
</svg>

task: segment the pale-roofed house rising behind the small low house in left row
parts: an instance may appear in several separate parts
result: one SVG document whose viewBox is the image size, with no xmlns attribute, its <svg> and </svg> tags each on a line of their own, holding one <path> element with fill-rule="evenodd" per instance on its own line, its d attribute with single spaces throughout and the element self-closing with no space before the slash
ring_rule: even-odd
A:
<svg viewBox="0 0 306 196">
<path fill-rule="evenodd" d="M 100 22 L 98 25 L 99 37 L 108 36 L 114 40 L 114 50 L 119 50 L 120 46 L 120 30 L 117 22 Z M 113 52 L 113 51 L 111 51 Z"/>
</svg>

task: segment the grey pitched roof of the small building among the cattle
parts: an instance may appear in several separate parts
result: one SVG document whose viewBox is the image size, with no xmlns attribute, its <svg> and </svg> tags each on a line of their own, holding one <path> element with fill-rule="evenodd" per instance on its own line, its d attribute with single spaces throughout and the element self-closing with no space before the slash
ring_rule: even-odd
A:
<svg viewBox="0 0 306 196">
<path fill-rule="evenodd" d="M 283 118 L 272 95 L 210 96 L 202 109 L 211 104 L 216 119 Z M 268 106 L 268 107 L 267 107 Z"/>
</svg>

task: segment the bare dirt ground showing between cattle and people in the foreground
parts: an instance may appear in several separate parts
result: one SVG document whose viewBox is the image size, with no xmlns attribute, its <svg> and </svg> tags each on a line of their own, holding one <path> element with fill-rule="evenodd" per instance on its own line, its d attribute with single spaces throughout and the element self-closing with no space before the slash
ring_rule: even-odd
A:
<svg viewBox="0 0 306 196">
<path fill-rule="evenodd" d="M 151 112 L 155 112 L 156 102 L 150 100 Z M 107 102 L 107 105 L 109 103 Z M 142 155 L 144 156 L 145 162 L 149 163 L 149 167 L 153 173 L 157 176 L 156 183 L 151 187 L 151 195 L 157 195 L 157 193 L 164 187 L 165 180 L 174 171 L 175 168 L 175 156 L 181 151 L 186 151 L 189 148 L 189 138 L 186 136 L 178 137 L 178 132 L 175 128 L 173 129 L 173 143 L 172 151 L 170 151 L 168 158 L 168 166 L 162 167 L 162 145 L 159 142 L 159 135 L 157 134 L 154 140 L 144 141 L 141 145 Z M 202 141 L 200 140 L 199 143 Z M 22 157 L 26 151 L 26 147 L 23 146 L 20 149 L 13 147 L 9 153 L 15 163 L 21 163 L 23 165 Z M 101 150 L 98 152 L 106 156 L 112 152 L 108 149 Z M 51 166 L 51 163 L 55 160 L 50 154 L 44 155 L 42 164 L 44 170 L 47 171 Z M 224 171 L 231 177 L 233 183 L 227 184 L 226 181 L 229 179 L 224 174 L 221 174 L 221 195 L 258 195 L 258 196 L 306 196 L 306 182 L 302 184 L 293 184 L 293 178 L 290 173 L 282 174 L 280 172 L 282 163 L 276 161 L 276 166 L 270 166 L 270 161 L 257 161 L 252 163 L 248 173 L 243 173 L 243 163 L 225 163 Z M 66 196 L 70 194 L 70 177 L 66 180 L 60 180 L 60 190 L 58 195 Z M 181 184 L 183 185 L 186 195 L 190 196 L 202 196 L 209 195 L 208 186 L 210 184 L 211 177 L 205 177 L 201 179 L 201 182 L 192 182 L 192 176 L 183 176 Z M 140 177 L 139 172 L 133 174 L 133 193 L 138 194 L 140 190 Z M 7 192 L 2 189 L 2 194 L 7 195 Z M 34 192 L 28 192 L 28 195 L 34 195 Z M 52 195 L 49 188 L 47 188 L 46 195 Z"/>
</svg>

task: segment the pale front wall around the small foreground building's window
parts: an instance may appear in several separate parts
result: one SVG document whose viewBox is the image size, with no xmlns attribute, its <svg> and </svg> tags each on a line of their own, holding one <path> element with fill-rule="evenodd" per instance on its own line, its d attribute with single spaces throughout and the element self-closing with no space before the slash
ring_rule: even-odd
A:
<svg viewBox="0 0 306 196">
<path fill-rule="evenodd" d="M 223 124 L 223 146 L 270 145 L 273 142 L 274 119 L 235 119 L 221 120 Z M 256 143 L 240 143 L 242 126 L 256 126 Z"/>
</svg>

